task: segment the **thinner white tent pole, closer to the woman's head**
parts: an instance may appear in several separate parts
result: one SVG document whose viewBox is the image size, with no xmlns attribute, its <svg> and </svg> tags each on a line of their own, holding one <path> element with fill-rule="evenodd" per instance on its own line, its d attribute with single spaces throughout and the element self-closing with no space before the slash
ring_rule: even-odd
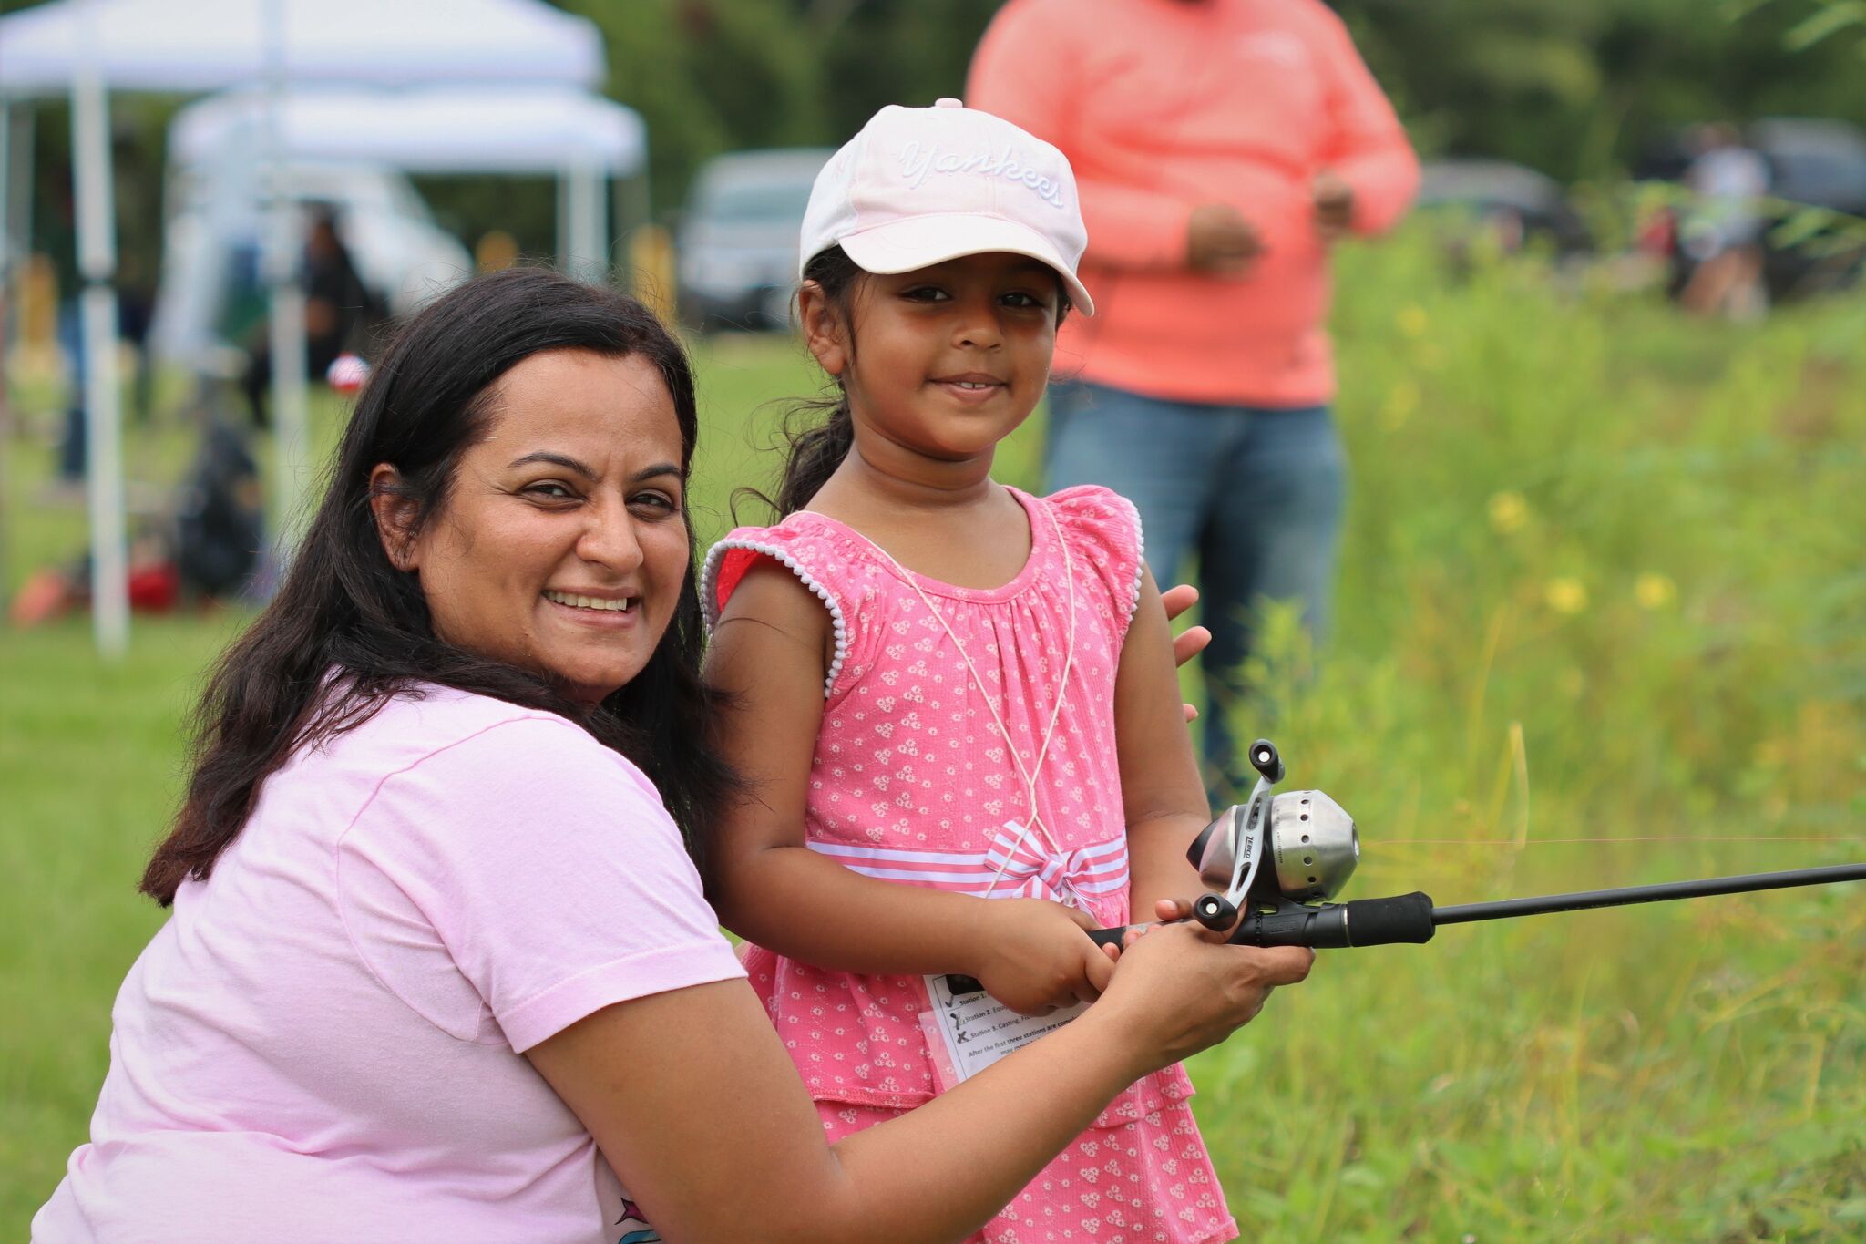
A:
<svg viewBox="0 0 1866 1244">
<path fill-rule="evenodd" d="M 304 494 L 310 483 L 312 435 L 308 388 L 308 343 L 304 339 L 304 285 L 299 283 L 297 214 L 291 187 L 285 185 L 285 0 L 265 6 L 267 65 L 267 349 L 272 356 L 274 470 L 272 537 L 280 569 L 291 560 L 304 522 Z"/>
</svg>

